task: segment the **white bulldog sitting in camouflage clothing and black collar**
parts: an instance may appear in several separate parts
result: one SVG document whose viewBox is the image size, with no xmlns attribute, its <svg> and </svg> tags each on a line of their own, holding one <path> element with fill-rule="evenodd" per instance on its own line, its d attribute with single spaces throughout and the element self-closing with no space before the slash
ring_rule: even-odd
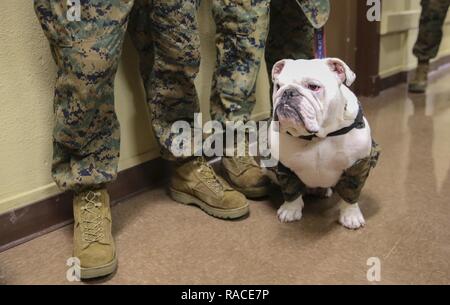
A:
<svg viewBox="0 0 450 305">
<path fill-rule="evenodd" d="M 355 78 L 337 58 L 286 59 L 273 67 L 270 143 L 272 155 L 279 156 L 275 172 L 285 199 L 277 213 L 280 221 L 300 220 L 302 197 L 320 189 L 323 195 L 335 191 L 340 196 L 344 227 L 365 225 L 358 200 L 379 149 L 348 88 Z"/>
</svg>

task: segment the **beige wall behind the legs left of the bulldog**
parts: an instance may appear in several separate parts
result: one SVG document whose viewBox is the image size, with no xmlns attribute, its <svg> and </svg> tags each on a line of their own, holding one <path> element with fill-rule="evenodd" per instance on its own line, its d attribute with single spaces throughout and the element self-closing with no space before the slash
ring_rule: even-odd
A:
<svg viewBox="0 0 450 305">
<path fill-rule="evenodd" d="M 208 111 L 214 47 L 210 1 L 201 8 L 203 61 L 197 80 L 202 110 Z M 58 192 L 50 177 L 52 96 L 55 65 L 30 0 L 0 1 L 0 213 Z M 256 118 L 268 117 L 265 68 L 258 81 Z M 137 71 L 127 39 L 116 79 L 121 122 L 120 169 L 158 156 Z"/>
</svg>

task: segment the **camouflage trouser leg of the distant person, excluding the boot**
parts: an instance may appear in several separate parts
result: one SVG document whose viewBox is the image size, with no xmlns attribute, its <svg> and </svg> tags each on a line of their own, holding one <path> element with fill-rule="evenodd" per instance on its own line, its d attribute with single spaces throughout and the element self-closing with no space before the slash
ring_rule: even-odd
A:
<svg viewBox="0 0 450 305">
<path fill-rule="evenodd" d="M 422 0 L 421 5 L 419 36 L 413 52 L 420 61 L 428 61 L 439 51 L 450 0 Z"/>
</svg>

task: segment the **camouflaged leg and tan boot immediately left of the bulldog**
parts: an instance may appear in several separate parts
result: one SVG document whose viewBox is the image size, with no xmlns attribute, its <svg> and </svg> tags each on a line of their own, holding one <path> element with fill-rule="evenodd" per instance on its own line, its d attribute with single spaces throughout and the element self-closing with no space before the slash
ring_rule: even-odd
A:
<svg viewBox="0 0 450 305">
<path fill-rule="evenodd" d="M 264 59 L 270 1 L 213 0 L 212 5 L 217 63 L 211 117 L 223 125 L 227 121 L 245 123 L 256 103 L 256 79 Z M 224 157 L 222 164 L 235 189 L 251 198 L 267 195 L 269 180 L 248 153 Z"/>
</svg>

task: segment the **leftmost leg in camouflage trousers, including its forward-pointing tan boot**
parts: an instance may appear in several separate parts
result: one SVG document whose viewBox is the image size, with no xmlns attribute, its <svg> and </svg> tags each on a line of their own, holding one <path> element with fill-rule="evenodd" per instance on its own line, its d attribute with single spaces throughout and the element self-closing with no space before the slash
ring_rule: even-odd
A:
<svg viewBox="0 0 450 305">
<path fill-rule="evenodd" d="M 112 273 L 117 256 L 105 185 L 116 178 L 119 122 L 114 77 L 132 0 L 85 1 L 70 21 L 65 1 L 35 0 L 58 67 L 52 174 L 74 196 L 74 257 L 81 277 Z"/>
</svg>

